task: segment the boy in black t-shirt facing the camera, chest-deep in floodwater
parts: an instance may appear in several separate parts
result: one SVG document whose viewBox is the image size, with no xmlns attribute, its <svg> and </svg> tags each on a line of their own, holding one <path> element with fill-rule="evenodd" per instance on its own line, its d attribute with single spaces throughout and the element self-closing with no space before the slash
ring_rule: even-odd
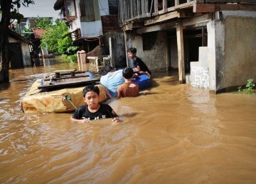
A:
<svg viewBox="0 0 256 184">
<path fill-rule="evenodd" d="M 97 86 L 86 86 L 82 90 L 82 96 L 87 105 L 78 107 L 70 120 L 90 122 L 90 120 L 113 118 L 112 122 L 121 122 L 110 105 L 99 103 L 100 89 Z"/>
</svg>

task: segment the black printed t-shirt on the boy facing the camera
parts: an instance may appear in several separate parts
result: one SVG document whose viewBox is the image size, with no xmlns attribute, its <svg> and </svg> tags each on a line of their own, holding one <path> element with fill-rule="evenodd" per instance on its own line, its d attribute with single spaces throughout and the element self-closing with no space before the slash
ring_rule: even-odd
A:
<svg viewBox="0 0 256 184">
<path fill-rule="evenodd" d="M 75 110 L 75 113 L 72 117 L 77 120 L 82 120 L 84 118 L 87 118 L 89 120 L 99 120 L 117 117 L 117 114 L 110 107 L 110 105 L 100 103 L 100 108 L 99 110 L 97 110 L 97 112 L 91 113 L 90 110 L 88 110 L 88 105 L 82 105 Z"/>
</svg>

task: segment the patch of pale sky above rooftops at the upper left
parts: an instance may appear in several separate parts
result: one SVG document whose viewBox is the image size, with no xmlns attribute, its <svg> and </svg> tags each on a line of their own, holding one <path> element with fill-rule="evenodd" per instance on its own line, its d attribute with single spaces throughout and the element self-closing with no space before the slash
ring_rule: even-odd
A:
<svg viewBox="0 0 256 184">
<path fill-rule="evenodd" d="M 55 0 L 33 0 L 35 4 L 29 4 L 28 7 L 21 5 L 18 12 L 23 14 L 24 17 L 53 17 L 60 18 L 60 11 L 55 11 L 53 6 Z"/>
</svg>

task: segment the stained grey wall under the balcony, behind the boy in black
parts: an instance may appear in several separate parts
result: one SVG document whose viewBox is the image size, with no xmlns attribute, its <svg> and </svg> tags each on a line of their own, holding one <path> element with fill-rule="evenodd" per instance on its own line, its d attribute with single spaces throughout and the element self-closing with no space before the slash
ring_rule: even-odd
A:
<svg viewBox="0 0 256 184">
<path fill-rule="evenodd" d="M 166 31 L 157 32 L 156 42 L 150 50 L 143 50 L 142 35 L 138 35 L 132 31 L 127 31 L 126 42 L 127 48 L 137 48 L 137 57 L 141 58 L 151 71 L 166 71 L 169 67 L 168 39 Z M 130 59 L 128 59 L 127 62 L 129 67 L 133 67 Z"/>
</svg>

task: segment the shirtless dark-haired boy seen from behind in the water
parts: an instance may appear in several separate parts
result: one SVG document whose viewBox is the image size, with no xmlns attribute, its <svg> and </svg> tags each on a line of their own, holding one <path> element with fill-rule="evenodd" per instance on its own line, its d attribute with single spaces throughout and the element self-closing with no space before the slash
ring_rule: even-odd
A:
<svg viewBox="0 0 256 184">
<path fill-rule="evenodd" d="M 122 71 L 124 77 L 124 84 L 117 87 L 117 98 L 121 97 L 135 97 L 139 96 L 139 84 L 132 82 L 134 71 L 132 68 L 125 68 Z"/>
</svg>

